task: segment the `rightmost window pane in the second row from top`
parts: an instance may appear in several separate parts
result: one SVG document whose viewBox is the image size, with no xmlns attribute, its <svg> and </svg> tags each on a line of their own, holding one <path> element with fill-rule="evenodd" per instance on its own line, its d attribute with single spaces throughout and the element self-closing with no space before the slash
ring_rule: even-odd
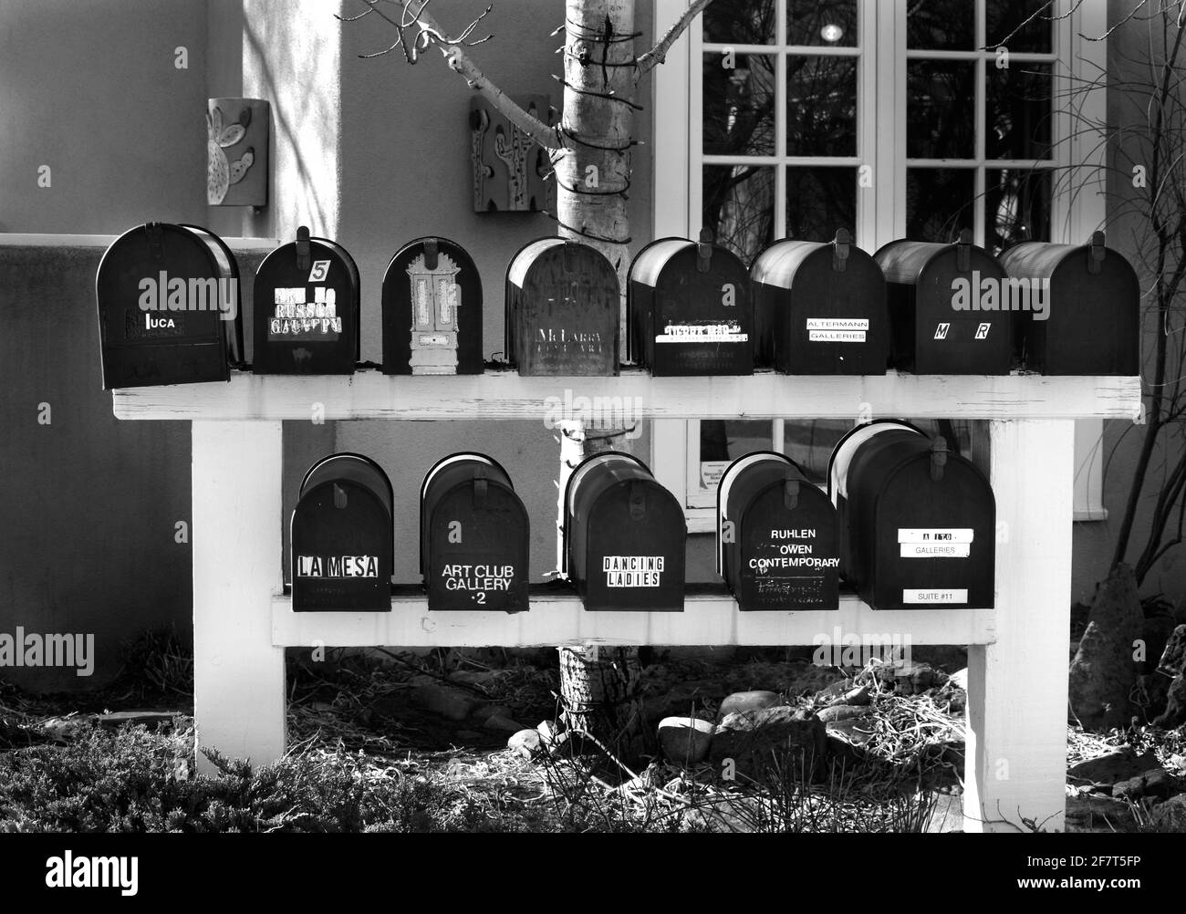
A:
<svg viewBox="0 0 1186 914">
<path fill-rule="evenodd" d="M 988 68 L 984 154 L 989 159 L 1048 159 L 1051 72 L 1046 64 Z"/>
</svg>

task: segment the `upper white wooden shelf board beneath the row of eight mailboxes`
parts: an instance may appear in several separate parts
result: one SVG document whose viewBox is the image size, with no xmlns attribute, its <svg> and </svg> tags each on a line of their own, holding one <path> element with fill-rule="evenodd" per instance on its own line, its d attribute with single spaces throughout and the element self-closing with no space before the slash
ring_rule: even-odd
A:
<svg viewBox="0 0 1186 914">
<path fill-rule="evenodd" d="M 580 398 L 588 398 L 582 403 Z M 599 402 L 594 402 L 598 398 Z M 1136 418 L 1139 377 L 871 375 L 652 378 L 251 375 L 113 391 L 123 420 Z M 581 409 L 602 415 L 582 415 Z M 317 411 L 314 411 L 317 410 Z M 608 413 L 610 415 L 604 415 Z"/>
</svg>

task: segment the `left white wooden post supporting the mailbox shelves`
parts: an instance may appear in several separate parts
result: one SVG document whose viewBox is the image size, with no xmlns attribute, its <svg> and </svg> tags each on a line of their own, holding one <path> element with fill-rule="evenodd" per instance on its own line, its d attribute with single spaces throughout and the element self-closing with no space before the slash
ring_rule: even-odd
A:
<svg viewBox="0 0 1186 914">
<path fill-rule="evenodd" d="M 193 426 L 193 716 L 200 747 L 256 765 L 285 752 L 285 650 L 272 644 L 281 558 L 280 422 Z"/>
</svg>

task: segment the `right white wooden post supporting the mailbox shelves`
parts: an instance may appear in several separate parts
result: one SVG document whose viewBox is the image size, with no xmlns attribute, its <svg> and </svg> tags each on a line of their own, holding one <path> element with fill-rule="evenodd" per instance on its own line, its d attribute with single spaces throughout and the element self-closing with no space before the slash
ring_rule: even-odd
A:
<svg viewBox="0 0 1186 914">
<path fill-rule="evenodd" d="M 990 423 L 996 641 L 968 652 L 967 831 L 1064 829 L 1072 420 Z"/>
</svg>

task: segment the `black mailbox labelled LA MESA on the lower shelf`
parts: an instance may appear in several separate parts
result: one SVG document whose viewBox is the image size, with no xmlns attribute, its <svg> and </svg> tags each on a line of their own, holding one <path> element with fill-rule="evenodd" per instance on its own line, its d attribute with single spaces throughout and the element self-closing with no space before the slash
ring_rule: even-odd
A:
<svg viewBox="0 0 1186 914">
<path fill-rule="evenodd" d="M 292 517 L 294 612 L 390 612 L 393 500 L 370 458 L 331 454 L 310 467 Z"/>
</svg>

